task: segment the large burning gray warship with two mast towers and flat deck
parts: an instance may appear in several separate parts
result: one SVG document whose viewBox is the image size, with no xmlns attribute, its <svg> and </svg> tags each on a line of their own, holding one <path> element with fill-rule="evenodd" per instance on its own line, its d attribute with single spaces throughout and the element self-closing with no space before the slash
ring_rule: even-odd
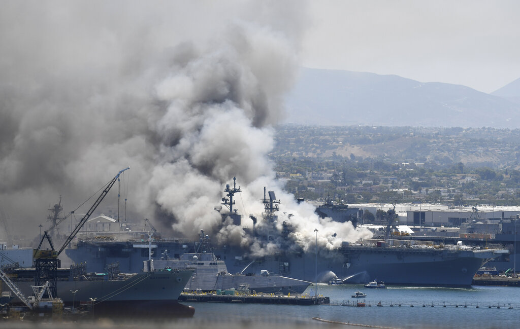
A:
<svg viewBox="0 0 520 329">
<path fill-rule="evenodd" d="M 233 178 L 233 187 L 226 185 L 223 205 L 229 212 L 222 213 L 223 218 L 230 217 L 233 224 L 240 225 L 241 216 L 233 211 L 233 196 L 240 192 Z M 276 228 L 276 211 L 279 200 L 274 191 L 266 197 L 264 188 L 265 214 L 262 221 L 271 225 L 268 235 L 255 230 L 249 231 L 257 240 L 273 242 L 276 231 L 278 248 L 263 257 L 253 257 L 241 246 L 215 246 L 216 259 L 225 262 L 230 273 L 257 274 L 268 270 L 280 276 L 304 281 L 329 282 L 339 278 L 345 283 L 367 283 L 375 278 L 387 284 L 432 285 L 432 286 L 470 286 L 477 270 L 490 259 L 503 254 L 503 250 L 475 250 L 456 245 L 392 245 L 392 241 L 343 242 L 340 248 L 323 250 L 309 246 L 304 250 L 290 240 L 289 234 L 294 229 L 288 223 L 282 223 L 282 229 Z M 257 218 L 250 216 L 253 224 Z M 265 226 L 264 226 L 265 227 Z M 107 232 L 105 232 L 107 235 Z M 338 237 L 341 238 L 341 237 Z M 80 239 L 75 248 L 66 250 L 67 255 L 76 263 L 87 262 L 89 271 L 102 270 L 111 263 L 119 262 L 128 271 L 139 271 L 146 261 L 148 246 L 144 240 L 109 241 L 107 239 Z M 197 243 L 183 239 L 157 239 L 153 241 L 153 259 L 164 257 L 167 250 L 179 259 L 186 253 L 196 253 Z"/>
</svg>

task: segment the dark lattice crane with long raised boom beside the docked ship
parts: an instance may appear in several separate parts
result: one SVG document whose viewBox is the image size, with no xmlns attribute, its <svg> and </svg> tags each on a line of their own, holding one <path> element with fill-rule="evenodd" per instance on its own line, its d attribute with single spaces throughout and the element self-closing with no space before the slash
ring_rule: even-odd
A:
<svg viewBox="0 0 520 329">
<path fill-rule="evenodd" d="M 35 276 L 34 281 L 36 286 L 42 286 L 44 282 L 49 281 L 49 289 L 48 291 L 53 296 L 56 296 L 56 282 L 57 282 L 57 271 L 58 266 L 60 264 L 60 260 L 58 259 L 58 256 L 61 254 L 65 248 L 67 248 L 67 245 L 74 239 L 74 237 L 77 235 L 77 232 L 80 231 L 80 229 L 83 227 L 83 225 L 87 222 L 88 218 L 92 213 L 96 210 L 98 205 L 101 203 L 101 201 L 107 196 L 108 191 L 114 183 L 119 179 L 119 176 L 125 171 L 130 169 L 130 167 L 125 168 L 123 170 L 120 170 L 115 177 L 108 182 L 105 185 L 105 189 L 103 189 L 101 195 L 97 198 L 97 200 L 94 202 L 92 207 L 87 211 L 87 213 L 81 218 L 80 222 L 77 223 L 76 227 L 71 231 L 71 234 L 69 237 L 63 242 L 63 245 L 59 250 L 55 250 L 53 243 L 50 240 L 49 235 L 47 234 L 47 231 L 44 232 L 44 235 L 42 237 L 42 240 L 40 241 L 40 244 L 38 245 L 38 248 L 33 250 L 33 258 L 34 258 L 34 267 L 35 267 Z M 74 211 L 72 211 L 70 214 L 73 214 Z M 62 218 L 61 221 L 65 220 L 67 217 Z M 61 223 L 61 221 L 59 223 Z M 56 224 L 59 224 L 56 223 Z M 51 227 L 51 229 L 54 228 Z M 40 250 L 43 241 L 47 239 L 50 245 L 50 250 Z"/>
</svg>

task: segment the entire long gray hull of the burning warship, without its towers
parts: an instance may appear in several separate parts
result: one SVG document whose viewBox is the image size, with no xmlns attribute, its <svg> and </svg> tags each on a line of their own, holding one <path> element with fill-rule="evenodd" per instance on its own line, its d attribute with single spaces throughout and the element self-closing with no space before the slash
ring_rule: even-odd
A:
<svg viewBox="0 0 520 329">
<path fill-rule="evenodd" d="M 80 241 L 67 255 L 76 263 L 87 262 L 89 271 L 102 271 L 119 262 L 121 269 L 138 271 L 148 257 L 148 249 L 127 242 Z M 168 250 L 171 255 L 193 251 L 193 242 L 154 242 L 155 255 Z M 134 248 L 136 246 L 136 248 Z M 314 248 L 310 248 L 314 249 Z M 280 276 L 314 282 L 328 282 L 335 276 L 344 282 L 367 283 L 377 278 L 388 284 L 469 286 L 477 270 L 498 256 L 492 250 L 415 249 L 346 246 L 333 251 L 284 251 L 261 258 L 245 255 L 239 248 L 215 248 L 229 273 L 253 274 L 268 270 Z M 316 259 L 317 258 L 317 259 Z M 318 276 L 316 277 L 316 268 Z"/>
</svg>

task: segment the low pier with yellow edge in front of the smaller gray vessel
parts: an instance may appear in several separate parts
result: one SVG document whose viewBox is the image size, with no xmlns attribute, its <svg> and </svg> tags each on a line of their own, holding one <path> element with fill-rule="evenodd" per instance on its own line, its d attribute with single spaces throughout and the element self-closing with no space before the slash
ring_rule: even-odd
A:
<svg viewBox="0 0 520 329">
<path fill-rule="evenodd" d="M 179 301 L 207 303 L 248 303 L 248 304 L 283 304 L 283 305 L 322 305 L 330 303 L 329 297 L 308 295 L 222 295 L 216 293 L 181 293 Z"/>
</svg>

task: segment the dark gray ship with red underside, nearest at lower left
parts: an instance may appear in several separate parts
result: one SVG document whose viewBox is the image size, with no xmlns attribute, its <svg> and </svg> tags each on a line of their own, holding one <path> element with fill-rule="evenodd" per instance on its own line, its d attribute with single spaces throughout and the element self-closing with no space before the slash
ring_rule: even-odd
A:
<svg viewBox="0 0 520 329">
<path fill-rule="evenodd" d="M 58 270 L 56 295 L 74 308 L 94 304 L 97 317 L 191 317 L 193 307 L 178 303 L 177 298 L 192 273 L 191 269 L 176 268 L 121 273 L 117 264 L 101 273 L 87 273 L 82 263 Z M 12 275 L 21 293 L 31 296 L 34 269 L 14 269 Z M 21 303 L 15 298 L 17 302 Z"/>
</svg>

